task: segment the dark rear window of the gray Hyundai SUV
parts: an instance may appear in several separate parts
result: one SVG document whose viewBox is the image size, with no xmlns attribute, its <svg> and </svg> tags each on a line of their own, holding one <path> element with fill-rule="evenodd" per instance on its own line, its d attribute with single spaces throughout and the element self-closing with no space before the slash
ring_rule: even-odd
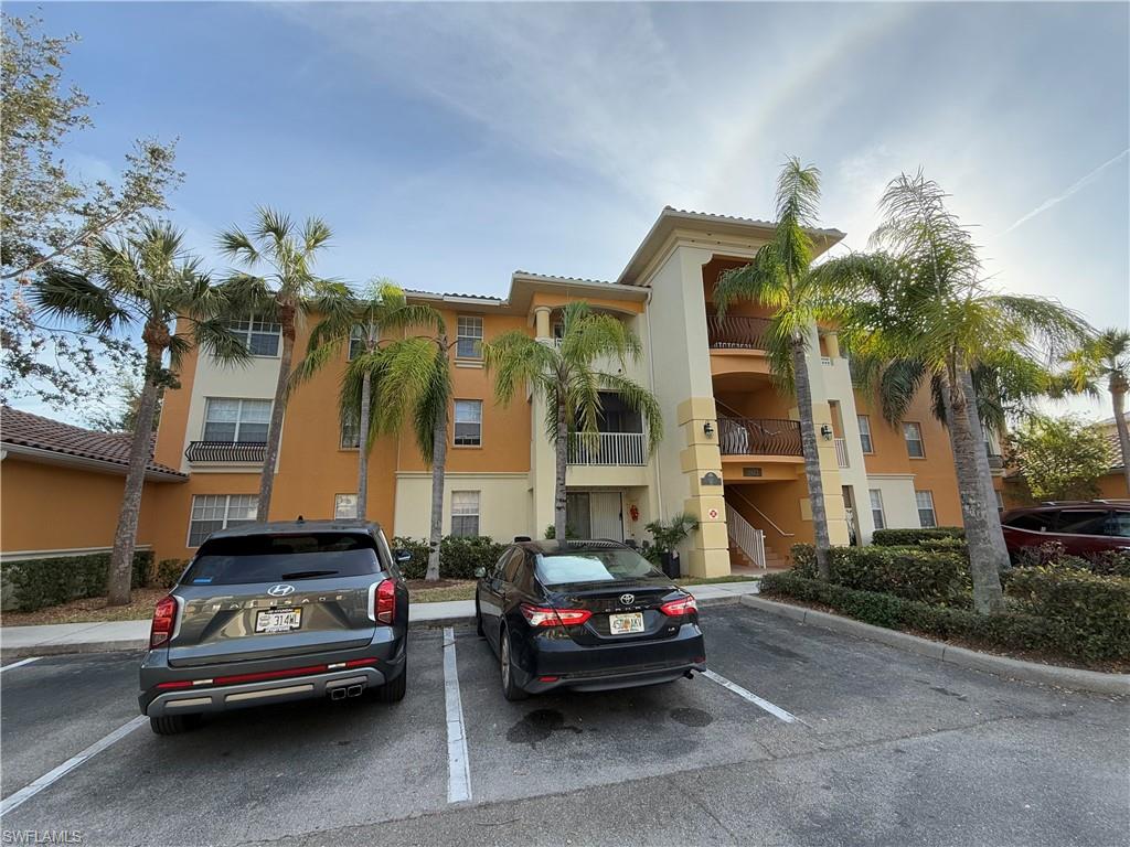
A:
<svg viewBox="0 0 1130 847">
<path fill-rule="evenodd" d="M 381 573 L 368 535 L 306 533 L 216 539 L 200 548 L 182 585 L 279 583 Z"/>
</svg>

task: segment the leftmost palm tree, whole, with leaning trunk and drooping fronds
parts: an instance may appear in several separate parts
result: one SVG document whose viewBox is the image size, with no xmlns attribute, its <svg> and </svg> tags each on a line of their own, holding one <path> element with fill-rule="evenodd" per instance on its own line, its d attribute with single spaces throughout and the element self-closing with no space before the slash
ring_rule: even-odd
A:
<svg viewBox="0 0 1130 847">
<path fill-rule="evenodd" d="M 160 392 L 176 386 L 176 372 L 193 348 L 203 348 L 227 361 L 247 357 L 246 349 L 227 329 L 223 295 L 201 272 L 199 260 L 186 254 L 183 238 L 183 232 L 171 224 L 142 221 L 131 237 L 98 239 L 92 250 L 89 274 L 49 268 L 33 295 L 43 314 L 77 321 L 92 331 L 141 329 L 145 373 L 110 559 L 110 605 L 130 602 L 138 514 Z M 171 332 L 177 318 L 182 329 Z"/>
</svg>

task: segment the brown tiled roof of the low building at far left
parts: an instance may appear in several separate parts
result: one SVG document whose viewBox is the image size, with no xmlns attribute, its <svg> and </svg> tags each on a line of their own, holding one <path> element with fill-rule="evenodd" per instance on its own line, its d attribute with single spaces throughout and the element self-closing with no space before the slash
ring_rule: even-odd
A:
<svg viewBox="0 0 1130 847">
<path fill-rule="evenodd" d="M 129 434 L 95 433 L 51 418 L 0 407 L 0 446 L 14 454 L 58 464 L 101 466 L 124 473 L 130 462 Z M 151 452 L 150 452 L 151 455 Z M 150 461 L 146 475 L 188 479 L 188 474 Z"/>
</svg>

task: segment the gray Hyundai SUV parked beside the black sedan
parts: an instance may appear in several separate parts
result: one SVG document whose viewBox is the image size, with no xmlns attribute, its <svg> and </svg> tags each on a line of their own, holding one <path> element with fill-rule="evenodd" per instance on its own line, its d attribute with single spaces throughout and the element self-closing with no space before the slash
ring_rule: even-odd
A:
<svg viewBox="0 0 1130 847">
<path fill-rule="evenodd" d="M 157 603 L 141 714 L 158 735 L 206 713 L 405 696 L 408 588 L 380 526 L 252 523 L 212 533 Z"/>
</svg>

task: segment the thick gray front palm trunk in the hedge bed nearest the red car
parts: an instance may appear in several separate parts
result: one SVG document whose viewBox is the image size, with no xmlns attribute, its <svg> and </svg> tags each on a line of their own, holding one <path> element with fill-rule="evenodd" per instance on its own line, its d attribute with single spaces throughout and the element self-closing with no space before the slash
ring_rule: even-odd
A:
<svg viewBox="0 0 1130 847">
<path fill-rule="evenodd" d="M 960 381 L 960 378 L 959 378 Z M 957 488 L 962 498 L 962 517 L 965 541 L 970 548 L 970 573 L 973 577 L 973 608 L 979 614 L 991 614 L 1005 608 L 1000 588 L 1000 571 L 1008 567 L 1006 553 L 1001 561 L 993 543 L 984 501 L 984 481 L 977 470 L 977 452 L 984 453 L 984 442 L 976 439 L 970 418 L 965 391 L 954 384 L 949 374 L 942 376 L 942 391 L 949 394 L 950 442 L 954 446 L 954 466 Z M 996 510 L 996 509 L 993 509 Z"/>
</svg>

